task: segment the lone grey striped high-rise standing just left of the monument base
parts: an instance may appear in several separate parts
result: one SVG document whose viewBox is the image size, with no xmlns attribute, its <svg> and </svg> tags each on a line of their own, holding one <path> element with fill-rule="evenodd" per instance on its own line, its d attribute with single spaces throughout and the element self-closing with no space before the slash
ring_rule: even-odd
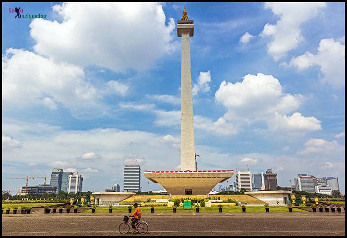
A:
<svg viewBox="0 0 347 238">
<path fill-rule="evenodd" d="M 139 192 L 141 182 L 141 168 L 136 160 L 126 162 L 124 166 L 124 192 Z"/>
</svg>

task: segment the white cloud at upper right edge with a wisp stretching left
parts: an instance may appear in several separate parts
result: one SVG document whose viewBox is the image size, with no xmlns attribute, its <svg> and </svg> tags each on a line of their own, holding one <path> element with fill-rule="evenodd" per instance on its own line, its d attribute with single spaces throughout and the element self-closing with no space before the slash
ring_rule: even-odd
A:
<svg viewBox="0 0 347 238">
<path fill-rule="evenodd" d="M 345 45 L 342 45 L 341 42 L 334 41 L 334 39 L 323 39 L 319 43 L 317 55 L 305 52 L 301 56 L 292 58 L 288 64 L 298 70 L 312 65 L 319 66 L 323 74 L 321 79 L 323 83 L 335 87 L 345 86 Z"/>
</svg>

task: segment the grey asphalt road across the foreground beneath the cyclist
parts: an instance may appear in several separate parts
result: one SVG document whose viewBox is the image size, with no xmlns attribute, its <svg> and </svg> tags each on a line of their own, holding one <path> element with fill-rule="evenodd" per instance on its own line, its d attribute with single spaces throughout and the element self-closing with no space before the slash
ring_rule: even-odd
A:
<svg viewBox="0 0 347 238">
<path fill-rule="evenodd" d="M 3 214 L 2 236 L 121 235 L 124 214 Z M 147 236 L 345 236 L 345 213 L 143 214 Z"/>
</svg>

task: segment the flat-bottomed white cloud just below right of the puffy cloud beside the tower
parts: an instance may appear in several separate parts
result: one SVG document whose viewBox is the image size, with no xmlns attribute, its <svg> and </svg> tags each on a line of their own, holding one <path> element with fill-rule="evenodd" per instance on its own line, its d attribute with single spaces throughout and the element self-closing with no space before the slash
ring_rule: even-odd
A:
<svg viewBox="0 0 347 238">
<path fill-rule="evenodd" d="M 275 113 L 275 118 L 268 121 L 271 131 L 313 131 L 321 130 L 321 121 L 314 117 L 304 117 L 300 113 L 291 116 Z"/>
</svg>

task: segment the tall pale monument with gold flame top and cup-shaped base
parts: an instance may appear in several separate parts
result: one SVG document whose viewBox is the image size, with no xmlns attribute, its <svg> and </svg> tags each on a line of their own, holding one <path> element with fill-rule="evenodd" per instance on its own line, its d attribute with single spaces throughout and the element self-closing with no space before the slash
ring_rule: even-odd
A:
<svg viewBox="0 0 347 238">
<path fill-rule="evenodd" d="M 177 21 L 177 36 L 182 39 L 180 170 L 144 172 L 147 179 L 160 183 L 171 195 L 208 195 L 218 182 L 231 178 L 234 173 L 233 170 L 196 171 L 189 43 L 193 35 L 194 23 L 184 8 L 181 20 Z"/>
</svg>

